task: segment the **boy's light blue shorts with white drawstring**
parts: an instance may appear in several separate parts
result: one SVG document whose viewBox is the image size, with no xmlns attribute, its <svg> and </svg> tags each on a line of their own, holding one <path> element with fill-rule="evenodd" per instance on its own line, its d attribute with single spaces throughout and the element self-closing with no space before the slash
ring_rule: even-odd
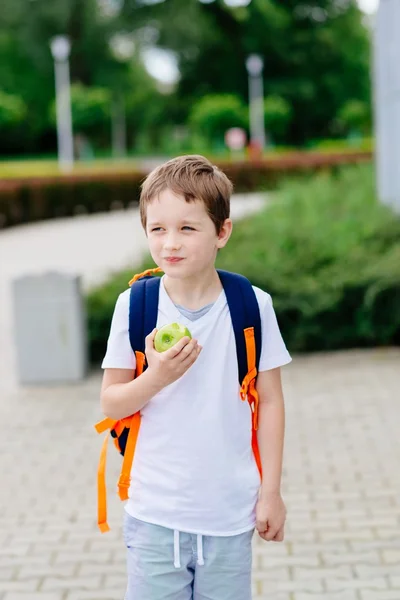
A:
<svg viewBox="0 0 400 600">
<path fill-rule="evenodd" d="M 125 515 L 125 600 L 251 600 L 253 530 L 200 536 Z"/>
</svg>

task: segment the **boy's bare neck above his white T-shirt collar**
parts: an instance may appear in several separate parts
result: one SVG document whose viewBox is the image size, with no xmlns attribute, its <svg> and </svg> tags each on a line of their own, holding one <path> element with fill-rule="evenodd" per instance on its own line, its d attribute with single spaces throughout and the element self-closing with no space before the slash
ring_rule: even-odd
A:
<svg viewBox="0 0 400 600">
<path fill-rule="evenodd" d="M 215 302 L 222 290 L 221 280 L 213 267 L 195 277 L 175 279 L 165 275 L 164 287 L 174 304 L 197 310 Z"/>
</svg>

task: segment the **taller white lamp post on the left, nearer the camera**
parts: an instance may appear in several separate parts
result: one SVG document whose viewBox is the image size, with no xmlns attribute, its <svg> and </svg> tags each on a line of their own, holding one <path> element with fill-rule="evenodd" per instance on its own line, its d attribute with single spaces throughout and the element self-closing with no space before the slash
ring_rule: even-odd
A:
<svg viewBox="0 0 400 600">
<path fill-rule="evenodd" d="M 56 82 L 58 164 L 63 171 L 70 171 L 74 164 L 68 62 L 71 45 L 66 36 L 58 35 L 51 40 L 50 48 L 54 58 Z"/>
</svg>

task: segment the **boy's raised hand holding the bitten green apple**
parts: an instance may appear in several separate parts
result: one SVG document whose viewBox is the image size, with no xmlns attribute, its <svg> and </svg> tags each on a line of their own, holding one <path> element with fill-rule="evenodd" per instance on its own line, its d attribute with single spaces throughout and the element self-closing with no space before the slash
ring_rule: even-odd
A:
<svg viewBox="0 0 400 600">
<path fill-rule="evenodd" d="M 197 360 L 202 347 L 197 340 L 184 337 L 179 340 L 172 348 L 165 352 L 157 352 L 154 348 L 154 338 L 157 329 L 146 337 L 146 359 L 148 370 L 154 373 L 157 381 L 166 387 L 173 383 L 193 365 Z"/>
</svg>

